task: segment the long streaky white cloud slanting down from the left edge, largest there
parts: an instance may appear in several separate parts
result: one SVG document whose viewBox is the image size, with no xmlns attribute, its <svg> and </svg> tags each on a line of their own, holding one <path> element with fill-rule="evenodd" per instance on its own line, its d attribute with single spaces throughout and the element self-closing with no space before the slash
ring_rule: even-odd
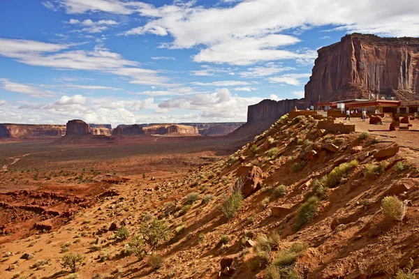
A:
<svg viewBox="0 0 419 279">
<path fill-rule="evenodd" d="M 44 66 L 61 70 L 91 70 L 130 77 L 133 84 L 168 85 L 168 77 L 156 70 L 139 68 L 139 63 L 124 59 L 121 54 L 103 47 L 94 50 L 67 50 L 71 45 L 42 43 L 34 40 L 0 38 L 0 56 L 16 59 L 31 66 Z M 67 50 L 59 52 L 60 50 Z"/>
</svg>

